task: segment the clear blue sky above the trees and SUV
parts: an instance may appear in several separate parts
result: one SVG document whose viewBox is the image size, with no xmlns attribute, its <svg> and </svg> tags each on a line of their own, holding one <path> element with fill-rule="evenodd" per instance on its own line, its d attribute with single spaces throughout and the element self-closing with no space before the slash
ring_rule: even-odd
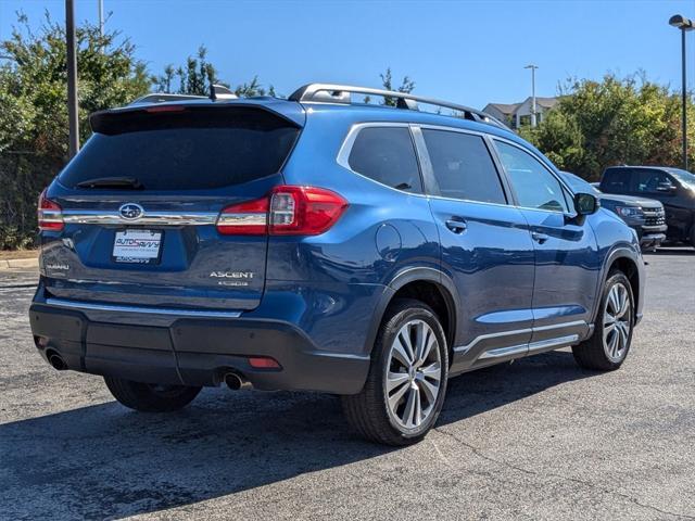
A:
<svg viewBox="0 0 695 521">
<path fill-rule="evenodd" d="M 14 12 L 63 20 L 62 0 L 0 0 L 0 39 Z M 639 69 L 680 89 L 680 35 L 672 14 L 695 18 L 695 0 L 652 1 L 232 1 L 104 0 L 108 26 L 123 31 L 152 72 L 181 63 L 201 43 L 219 77 L 258 75 L 289 94 L 308 81 L 379 86 L 391 66 L 416 92 L 476 107 L 554 96 L 568 77 Z M 78 21 L 97 20 L 97 0 L 77 0 Z M 687 35 L 695 89 L 695 31 Z"/>
</svg>

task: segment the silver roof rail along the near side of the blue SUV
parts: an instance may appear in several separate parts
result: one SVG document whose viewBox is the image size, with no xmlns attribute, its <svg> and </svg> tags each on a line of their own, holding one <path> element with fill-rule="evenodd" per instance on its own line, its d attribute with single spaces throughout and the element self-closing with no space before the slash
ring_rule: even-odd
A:
<svg viewBox="0 0 695 521">
<path fill-rule="evenodd" d="M 504 123 L 490 114 L 471 109 L 469 106 L 451 103 L 448 101 L 435 100 L 432 98 L 424 98 L 421 96 L 414 96 L 407 92 L 400 92 L 395 90 L 382 90 L 372 89 L 370 87 L 355 87 L 350 85 L 336 85 L 336 84 L 308 84 L 296 89 L 288 99 L 290 101 L 299 102 L 324 102 L 324 103 L 351 103 L 350 94 L 372 94 L 382 96 L 383 98 L 394 98 L 396 107 L 407 109 L 410 111 L 417 111 L 417 103 L 425 103 L 427 105 L 441 106 L 444 109 L 451 109 L 456 112 L 460 112 L 465 119 L 470 119 L 478 123 L 488 123 L 500 128 L 508 130 Z"/>
</svg>

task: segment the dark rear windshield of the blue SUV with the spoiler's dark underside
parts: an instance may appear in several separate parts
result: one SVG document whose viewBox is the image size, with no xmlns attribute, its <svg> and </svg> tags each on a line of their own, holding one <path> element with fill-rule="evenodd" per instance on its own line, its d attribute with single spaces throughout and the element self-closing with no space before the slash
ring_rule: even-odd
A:
<svg viewBox="0 0 695 521">
<path fill-rule="evenodd" d="M 71 188 L 99 178 L 137 179 L 147 190 L 239 185 L 276 174 L 299 129 L 253 107 L 111 113 L 61 173 Z"/>
</svg>

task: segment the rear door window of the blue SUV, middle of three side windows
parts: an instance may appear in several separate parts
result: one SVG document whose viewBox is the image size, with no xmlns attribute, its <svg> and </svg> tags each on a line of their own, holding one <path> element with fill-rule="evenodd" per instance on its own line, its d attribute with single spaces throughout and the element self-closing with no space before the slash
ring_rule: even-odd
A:
<svg viewBox="0 0 695 521">
<path fill-rule="evenodd" d="M 422 130 L 441 195 L 506 203 L 490 152 L 480 136 Z"/>
</svg>

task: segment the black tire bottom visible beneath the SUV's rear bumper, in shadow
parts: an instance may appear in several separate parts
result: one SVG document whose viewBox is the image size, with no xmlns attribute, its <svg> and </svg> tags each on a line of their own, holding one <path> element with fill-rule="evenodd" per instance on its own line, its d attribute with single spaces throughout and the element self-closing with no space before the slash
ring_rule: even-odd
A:
<svg viewBox="0 0 695 521">
<path fill-rule="evenodd" d="M 141 412 L 172 412 L 190 404 L 201 387 L 159 385 L 104 377 L 114 398 L 126 407 Z"/>
</svg>

